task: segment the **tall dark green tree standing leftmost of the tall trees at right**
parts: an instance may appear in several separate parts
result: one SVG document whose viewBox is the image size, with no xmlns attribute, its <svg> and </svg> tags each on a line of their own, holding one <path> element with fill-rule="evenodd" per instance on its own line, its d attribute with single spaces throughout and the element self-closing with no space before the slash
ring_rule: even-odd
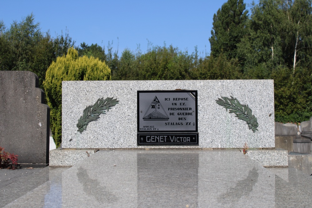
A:
<svg viewBox="0 0 312 208">
<path fill-rule="evenodd" d="M 248 11 L 243 0 L 228 0 L 213 15 L 211 37 L 211 55 L 217 57 L 224 53 L 227 59 L 237 57 L 236 44 L 246 34 Z"/>
</svg>

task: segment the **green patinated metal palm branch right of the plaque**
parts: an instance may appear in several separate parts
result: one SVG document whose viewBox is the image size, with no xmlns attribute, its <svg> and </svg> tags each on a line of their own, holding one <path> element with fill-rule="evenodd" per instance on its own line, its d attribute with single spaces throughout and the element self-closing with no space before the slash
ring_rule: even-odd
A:
<svg viewBox="0 0 312 208">
<path fill-rule="evenodd" d="M 222 97 L 218 98 L 216 100 L 217 104 L 223 106 L 223 108 L 230 109 L 229 113 L 234 113 L 235 117 L 238 119 L 241 119 L 243 121 L 246 121 L 248 124 L 249 129 L 253 131 L 253 133 L 258 130 L 258 122 L 255 115 L 252 115 L 251 109 L 248 107 L 248 105 L 240 104 L 240 102 L 231 96 L 231 98 L 228 97 Z M 259 131 L 259 130 L 258 130 Z"/>
</svg>

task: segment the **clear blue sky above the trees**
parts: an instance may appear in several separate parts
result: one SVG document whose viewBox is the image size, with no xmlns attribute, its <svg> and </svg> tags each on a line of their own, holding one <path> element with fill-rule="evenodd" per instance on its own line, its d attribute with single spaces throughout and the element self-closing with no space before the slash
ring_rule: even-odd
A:
<svg viewBox="0 0 312 208">
<path fill-rule="evenodd" d="M 105 46 L 113 41 L 119 55 L 140 46 L 144 53 L 152 46 L 172 45 L 201 56 L 210 53 L 209 37 L 213 14 L 226 1 L 2 1 L 0 20 L 10 27 L 13 21 L 33 13 L 41 31 L 51 36 L 68 29 L 76 45 L 85 42 Z M 251 0 L 244 1 L 248 5 Z M 256 1 L 258 3 L 258 1 Z"/>
</svg>

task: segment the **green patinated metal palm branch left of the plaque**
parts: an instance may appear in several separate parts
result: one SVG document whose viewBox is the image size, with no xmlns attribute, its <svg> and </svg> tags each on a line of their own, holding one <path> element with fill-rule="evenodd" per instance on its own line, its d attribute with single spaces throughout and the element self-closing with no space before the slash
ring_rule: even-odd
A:
<svg viewBox="0 0 312 208">
<path fill-rule="evenodd" d="M 87 125 L 90 121 L 95 121 L 99 119 L 100 114 L 106 114 L 105 110 L 107 112 L 111 107 L 115 106 L 119 103 L 119 100 L 113 99 L 113 98 L 100 98 L 98 99 L 94 105 L 89 105 L 83 110 L 83 115 L 80 116 L 80 119 L 78 119 L 77 128 L 78 132 L 82 133 L 84 130 L 86 130 Z"/>
</svg>

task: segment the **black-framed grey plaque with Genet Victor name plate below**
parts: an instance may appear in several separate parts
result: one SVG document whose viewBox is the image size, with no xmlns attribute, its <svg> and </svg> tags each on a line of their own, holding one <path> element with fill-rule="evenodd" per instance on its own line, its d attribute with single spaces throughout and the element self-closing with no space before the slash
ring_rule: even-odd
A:
<svg viewBox="0 0 312 208">
<path fill-rule="evenodd" d="M 198 145 L 197 90 L 138 91 L 138 145 L 147 144 Z"/>
</svg>

